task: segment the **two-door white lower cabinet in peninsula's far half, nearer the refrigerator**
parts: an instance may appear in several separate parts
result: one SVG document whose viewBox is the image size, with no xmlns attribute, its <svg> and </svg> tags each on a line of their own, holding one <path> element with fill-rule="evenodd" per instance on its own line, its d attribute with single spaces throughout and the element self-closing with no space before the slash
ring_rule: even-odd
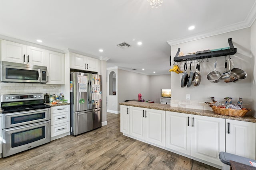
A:
<svg viewBox="0 0 256 170">
<path fill-rule="evenodd" d="M 129 110 L 129 135 L 164 147 L 165 111 L 132 106 Z"/>
</svg>

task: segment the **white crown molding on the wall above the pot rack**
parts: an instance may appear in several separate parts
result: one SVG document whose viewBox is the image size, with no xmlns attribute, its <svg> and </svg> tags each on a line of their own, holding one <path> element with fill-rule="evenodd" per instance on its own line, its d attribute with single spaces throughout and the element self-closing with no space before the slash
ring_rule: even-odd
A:
<svg viewBox="0 0 256 170">
<path fill-rule="evenodd" d="M 248 28 L 248 27 L 252 26 L 252 24 L 254 23 L 255 20 L 256 20 L 256 2 L 254 2 L 248 16 L 242 22 L 227 25 L 225 27 L 221 27 L 218 29 L 211 29 L 211 30 L 205 31 L 203 33 L 194 34 L 192 36 L 186 36 L 186 37 L 182 37 L 182 38 L 178 38 L 178 39 L 172 39 L 170 41 L 167 41 L 167 43 L 170 46 L 172 46 L 172 45 L 177 45 L 177 44 L 181 44 L 181 43 L 186 43 L 189 41 L 203 39 L 206 37 L 212 37 L 214 35 L 219 35 L 222 33 L 228 33 L 231 31 Z"/>
</svg>

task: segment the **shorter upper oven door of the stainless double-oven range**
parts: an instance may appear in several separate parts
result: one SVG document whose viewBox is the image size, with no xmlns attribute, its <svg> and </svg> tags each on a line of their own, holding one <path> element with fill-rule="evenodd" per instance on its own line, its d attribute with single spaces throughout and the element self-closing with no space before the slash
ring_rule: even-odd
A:
<svg viewBox="0 0 256 170">
<path fill-rule="evenodd" d="M 2 114 L 3 129 L 50 120 L 50 108 Z"/>
</svg>

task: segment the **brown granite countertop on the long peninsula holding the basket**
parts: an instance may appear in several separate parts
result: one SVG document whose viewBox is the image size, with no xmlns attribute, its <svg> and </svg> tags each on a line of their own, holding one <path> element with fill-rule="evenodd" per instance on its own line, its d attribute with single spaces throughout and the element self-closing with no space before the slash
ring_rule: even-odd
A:
<svg viewBox="0 0 256 170">
<path fill-rule="evenodd" d="M 232 120 L 240 120 L 240 121 L 248 121 L 248 122 L 256 123 L 256 118 L 253 117 L 252 115 L 245 115 L 244 117 L 233 117 L 233 116 L 219 115 L 219 114 L 216 114 L 213 111 L 209 111 L 209 110 L 171 107 L 170 105 L 167 105 L 167 104 L 148 103 L 148 102 L 130 101 L 130 102 L 122 102 L 119 104 L 124 105 L 124 106 L 143 107 L 143 108 L 148 108 L 148 109 L 174 111 L 174 112 L 186 113 L 186 114 L 192 114 L 192 115 L 202 115 L 202 116 L 218 117 L 218 118 L 224 118 L 224 119 L 232 119 Z"/>
</svg>

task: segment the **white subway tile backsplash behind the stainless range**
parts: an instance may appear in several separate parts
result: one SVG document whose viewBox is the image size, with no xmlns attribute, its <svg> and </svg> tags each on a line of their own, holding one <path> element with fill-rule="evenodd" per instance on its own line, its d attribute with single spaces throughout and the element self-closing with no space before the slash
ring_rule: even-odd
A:
<svg viewBox="0 0 256 170">
<path fill-rule="evenodd" d="M 0 95 L 3 94 L 26 94 L 26 93 L 48 93 L 57 94 L 60 86 L 56 84 L 41 83 L 0 83 Z M 1 100 L 1 99 L 0 99 Z"/>
</svg>

